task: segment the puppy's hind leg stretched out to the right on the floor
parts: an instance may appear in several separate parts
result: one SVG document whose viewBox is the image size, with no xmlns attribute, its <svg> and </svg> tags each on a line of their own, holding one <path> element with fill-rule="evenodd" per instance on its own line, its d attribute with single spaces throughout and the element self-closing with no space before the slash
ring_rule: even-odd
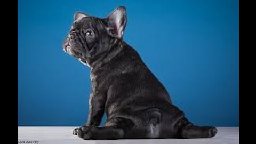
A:
<svg viewBox="0 0 256 144">
<path fill-rule="evenodd" d="M 217 129 L 213 126 L 195 126 L 183 117 L 178 122 L 179 133 L 178 138 L 211 138 L 217 133 Z"/>
</svg>

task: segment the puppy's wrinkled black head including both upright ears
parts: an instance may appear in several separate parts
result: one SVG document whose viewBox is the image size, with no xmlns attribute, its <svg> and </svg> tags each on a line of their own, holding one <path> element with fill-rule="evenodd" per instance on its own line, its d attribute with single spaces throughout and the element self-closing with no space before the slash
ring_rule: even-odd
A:
<svg viewBox="0 0 256 144">
<path fill-rule="evenodd" d="M 126 21 L 125 7 L 118 7 L 104 19 L 76 12 L 63 50 L 91 67 L 108 53 L 117 39 L 122 39 Z"/>
</svg>

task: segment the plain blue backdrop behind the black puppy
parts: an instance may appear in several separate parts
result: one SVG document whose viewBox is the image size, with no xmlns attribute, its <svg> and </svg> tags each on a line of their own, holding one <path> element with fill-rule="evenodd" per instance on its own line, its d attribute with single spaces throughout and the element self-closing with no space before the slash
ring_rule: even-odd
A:
<svg viewBox="0 0 256 144">
<path fill-rule="evenodd" d="M 87 120 L 90 69 L 62 51 L 75 11 L 125 6 L 124 40 L 198 125 L 239 126 L 238 1 L 18 1 L 18 125 Z"/>
</svg>

